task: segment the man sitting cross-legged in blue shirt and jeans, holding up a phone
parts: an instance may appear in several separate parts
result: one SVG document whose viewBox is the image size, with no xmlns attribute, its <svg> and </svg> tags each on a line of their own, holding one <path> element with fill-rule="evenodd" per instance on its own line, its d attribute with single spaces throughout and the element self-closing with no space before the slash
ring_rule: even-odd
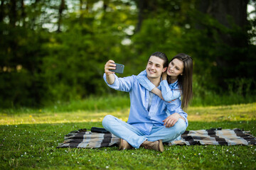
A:
<svg viewBox="0 0 256 170">
<path fill-rule="evenodd" d="M 154 52 L 149 57 L 147 78 L 158 88 L 161 74 L 167 66 L 168 59 L 164 53 Z M 176 99 L 171 103 L 165 102 L 139 84 L 137 76 L 119 78 L 110 69 L 115 69 L 113 60 L 105 64 L 103 78 L 107 85 L 112 89 L 129 92 L 131 105 L 127 123 L 106 115 L 102 121 L 103 127 L 121 138 L 119 149 L 141 146 L 163 152 L 162 142 L 175 140 L 188 126 L 187 113 L 181 109 L 181 101 Z"/>
</svg>

